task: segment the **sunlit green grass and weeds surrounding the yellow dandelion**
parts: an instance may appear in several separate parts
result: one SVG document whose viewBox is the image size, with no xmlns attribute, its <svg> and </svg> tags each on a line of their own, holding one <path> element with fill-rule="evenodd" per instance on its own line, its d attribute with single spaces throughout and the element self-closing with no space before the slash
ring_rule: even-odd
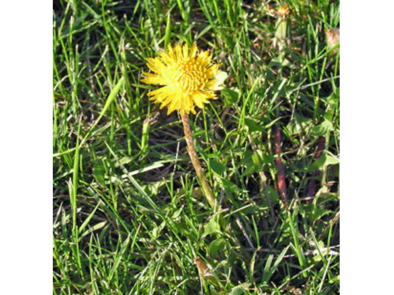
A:
<svg viewBox="0 0 394 295">
<path fill-rule="evenodd" d="M 339 53 L 324 34 L 339 1 L 299 2 L 287 1 L 282 48 L 277 1 L 54 2 L 53 294 L 339 294 Z M 141 83 L 145 58 L 181 41 L 228 74 L 190 117 L 221 214 L 202 197 L 180 118 Z"/>
</svg>

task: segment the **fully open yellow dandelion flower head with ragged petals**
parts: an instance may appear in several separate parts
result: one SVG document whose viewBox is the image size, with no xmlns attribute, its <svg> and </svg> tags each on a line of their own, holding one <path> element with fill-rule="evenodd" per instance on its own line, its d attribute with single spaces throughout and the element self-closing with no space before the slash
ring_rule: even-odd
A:
<svg viewBox="0 0 394 295">
<path fill-rule="evenodd" d="M 196 42 L 187 45 L 168 46 L 159 57 L 148 58 L 147 66 L 153 73 L 143 73 L 142 82 L 163 86 L 148 93 L 150 100 L 161 104 L 160 109 L 168 106 L 167 114 L 174 110 L 181 115 L 186 111 L 196 113 L 194 106 L 203 108 L 208 99 L 216 99 L 219 90 L 219 66 L 212 61 L 209 51 L 199 51 Z"/>
</svg>

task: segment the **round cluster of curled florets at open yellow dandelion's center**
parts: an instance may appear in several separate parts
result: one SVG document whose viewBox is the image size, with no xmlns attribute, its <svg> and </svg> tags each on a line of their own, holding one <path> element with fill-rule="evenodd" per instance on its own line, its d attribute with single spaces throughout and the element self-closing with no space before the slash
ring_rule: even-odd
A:
<svg viewBox="0 0 394 295">
<path fill-rule="evenodd" d="M 177 63 L 173 77 L 176 84 L 186 93 L 202 89 L 207 79 L 206 69 L 199 62 L 189 58 Z"/>
</svg>

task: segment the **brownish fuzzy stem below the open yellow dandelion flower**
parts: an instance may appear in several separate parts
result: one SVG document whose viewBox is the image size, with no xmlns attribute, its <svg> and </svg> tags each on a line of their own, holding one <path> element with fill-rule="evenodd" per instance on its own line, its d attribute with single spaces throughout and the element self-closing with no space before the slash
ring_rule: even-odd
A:
<svg viewBox="0 0 394 295">
<path fill-rule="evenodd" d="M 212 209 L 215 209 L 216 199 L 212 193 L 211 188 L 209 187 L 209 184 L 205 178 L 205 173 L 201 168 L 200 161 L 197 157 L 196 148 L 194 147 L 194 142 L 193 142 L 190 124 L 189 124 L 189 116 L 186 113 L 186 111 L 184 111 L 182 115 L 182 123 L 183 123 L 183 129 L 185 131 L 185 138 L 186 138 L 186 143 L 188 144 L 188 152 L 191 162 L 193 163 L 194 169 L 197 173 L 197 177 L 200 180 L 200 184 L 204 190 L 204 194 L 206 199 L 208 200 L 209 205 L 212 207 Z"/>
</svg>

